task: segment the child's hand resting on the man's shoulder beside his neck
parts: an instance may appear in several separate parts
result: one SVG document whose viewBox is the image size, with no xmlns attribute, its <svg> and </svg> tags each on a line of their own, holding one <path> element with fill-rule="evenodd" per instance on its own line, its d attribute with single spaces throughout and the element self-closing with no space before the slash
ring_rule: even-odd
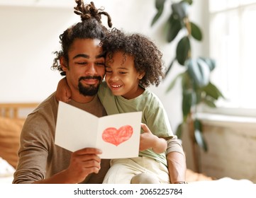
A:
<svg viewBox="0 0 256 198">
<path fill-rule="evenodd" d="M 65 103 L 69 103 L 69 101 L 71 100 L 71 91 L 67 84 L 66 77 L 62 78 L 57 84 L 55 97 L 57 101 L 62 101 Z"/>
</svg>

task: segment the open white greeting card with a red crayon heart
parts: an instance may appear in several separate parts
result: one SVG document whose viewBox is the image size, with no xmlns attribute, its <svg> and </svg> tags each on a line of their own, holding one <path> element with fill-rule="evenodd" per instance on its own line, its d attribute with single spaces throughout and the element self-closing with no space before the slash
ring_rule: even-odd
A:
<svg viewBox="0 0 256 198">
<path fill-rule="evenodd" d="M 138 157 L 142 112 L 96 117 L 60 101 L 55 144 L 69 151 L 99 148 L 101 158 Z"/>
</svg>

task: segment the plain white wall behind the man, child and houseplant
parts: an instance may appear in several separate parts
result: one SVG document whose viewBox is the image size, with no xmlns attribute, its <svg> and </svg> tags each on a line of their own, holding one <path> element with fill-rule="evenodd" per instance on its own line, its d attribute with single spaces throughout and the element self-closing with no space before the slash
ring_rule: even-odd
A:
<svg viewBox="0 0 256 198">
<path fill-rule="evenodd" d="M 44 1 L 48 4 L 51 2 L 38 2 Z M 63 4 L 57 1 L 62 5 L 60 7 L 56 4 L 52 7 L 38 6 L 36 3 L 21 6 L 21 1 L 17 2 L 18 6 L 6 6 L 0 0 L 0 103 L 41 102 L 55 91 L 61 78 L 58 71 L 50 69 L 55 57 L 52 52 L 59 50 L 59 35 L 80 19 L 73 13 L 75 4 L 72 0 L 66 0 Z M 200 8 L 203 2 L 195 0 L 191 10 L 191 18 L 199 24 L 204 19 Z M 170 1 L 166 3 L 170 4 Z M 114 27 L 151 37 L 164 53 L 165 63 L 169 64 L 174 56 L 175 45 L 165 42 L 160 23 L 150 27 L 156 12 L 155 0 L 95 0 L 94 4 L 98 8 L 105 7 Z M 169 7 L 165 6 L 166 11 Z M 165 19 L 166 16 L 162 21 Z M 200 54 L 201 45 L 195 44 L 193 50 Z M 150 88 L 164 103 L 173 129 L 182 118 L 180 88 L 176 86 L 168 94 L 165 90 L 179 70 L 178 66 L 174 66 L 172 73 L 158 88 Z"/>
</svg>

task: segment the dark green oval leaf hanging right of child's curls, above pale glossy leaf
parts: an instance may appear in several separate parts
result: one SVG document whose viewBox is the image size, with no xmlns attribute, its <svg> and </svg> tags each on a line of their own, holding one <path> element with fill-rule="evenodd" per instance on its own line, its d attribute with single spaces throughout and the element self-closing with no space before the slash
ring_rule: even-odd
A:
<svg viewBox="0 0 256 198">
<path fill-rule="evenodd" d="M 184 65 L 186 60 L 189 58 L 191 47 L 189 37 L 184 36 L 179 40 L 176 48 L 176 57 L 179 64 Z"/>
</svg>

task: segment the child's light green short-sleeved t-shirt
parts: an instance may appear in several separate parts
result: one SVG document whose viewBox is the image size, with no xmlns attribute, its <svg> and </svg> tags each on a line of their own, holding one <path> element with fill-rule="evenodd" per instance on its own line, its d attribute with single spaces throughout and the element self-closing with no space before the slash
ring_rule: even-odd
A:
<svg viewBox="0 0 256 198">
<path fill-rule="evenodd" d="M 104 81 L 99 88 L 99 99 L 104 105 L 108 115 L 123 112 L 143 112 L 142 123 L 147 124 L 148 128 L 158 137 L 171 139 L 171 126 L 161 101 L 157 95 L 145 89 L 143 94 L 136 98 L 127 100 L 122 96 L 113 95 Z M 139 156 L 147 156 L 167 165 L 166 153 L 154 153 L 152 149 L 140 151 Z"/>
</svg>

